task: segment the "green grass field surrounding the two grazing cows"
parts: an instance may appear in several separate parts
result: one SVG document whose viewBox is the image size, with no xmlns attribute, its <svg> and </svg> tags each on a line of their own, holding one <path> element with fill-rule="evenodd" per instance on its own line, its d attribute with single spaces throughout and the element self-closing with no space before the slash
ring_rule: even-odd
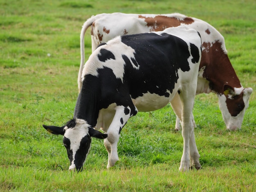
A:
<svg viewBox="0 0 256 192">
<path fill-rule="evenodd" d="M 214 94 L 196 96 L 195 140 L 201 170 L 178 171 L 181 132 L 168 105 L 139 113 L 121 132 L 115 167 L 93 139 L 83 172 L 68 171 L 61 136 L 42 124 L 72 118 L 78 95 L 79 36 L 98 13 L 179 12 L 225 37 L 244 87 L 256 90 L 255 0 L 0 0 L 0 191 L 256 191 L 256 94 L 241 130 L 228 132 Z M 91 53 L 85 35 L 86 58 Z"/>
</svg>

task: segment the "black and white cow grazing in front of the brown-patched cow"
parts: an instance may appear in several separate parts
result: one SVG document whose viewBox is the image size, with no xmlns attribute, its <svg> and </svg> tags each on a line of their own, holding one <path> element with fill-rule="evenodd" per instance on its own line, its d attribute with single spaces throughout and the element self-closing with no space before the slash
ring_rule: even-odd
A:
<svg viewBox="0 0 256 192">
<path fill-rule="evenodd" d="M 99 45 L 85 63 L 73 119 L 63 127 L 43 127 L 64 135 L 70 170 L 82 169 L 91 137 L 105 138 L 107 167 L 112 167 L 119 159 L 121 129 L 131 116 L 180 100 L 182 110 L 174 108 L 182 119 L 184 139 L 180 171 L 189 169 L 190 159 L 191 165 L 199 169 L 192 108 L 200 60 L 200 35 L 186 26 L 118 36 Z M 100 128 L 107 134 L 97 131 Z"/>
</svg>

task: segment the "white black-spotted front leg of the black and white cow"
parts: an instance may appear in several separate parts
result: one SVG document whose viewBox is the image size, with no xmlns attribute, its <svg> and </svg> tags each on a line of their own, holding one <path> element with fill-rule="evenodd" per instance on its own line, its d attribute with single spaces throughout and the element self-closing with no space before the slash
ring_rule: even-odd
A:
<svg viewBox="0 0 256 192">
<path fill-rule="evenodd" d="M 112 167 L 117 161 L 119 161 L 117 154 L 117 143 L 119 140 L 121 129 L 127 123 L 131 114 L 130 107 L 117 106 L 115 116 L 112 123 L 108 128 L 108 137 L 104 140 L 104 145 L 108 151 L 108 166 Z"/>
</svg>

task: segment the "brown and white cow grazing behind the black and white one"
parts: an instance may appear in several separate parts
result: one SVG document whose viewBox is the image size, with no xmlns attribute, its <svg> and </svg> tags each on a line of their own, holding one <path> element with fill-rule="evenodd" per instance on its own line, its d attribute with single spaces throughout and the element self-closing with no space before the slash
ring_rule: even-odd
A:
<svg viewBox="0 0 256 192">
<path fill-rule="evenodd" d="M 252 88 L 244 88 L 227 56 L 224 38 L 207 22 L 179 13 L 153 14 L 99 14 L 89 18 L 81 30 L 81 64 L 78 75 L 79 91 L 82 85 L 82 70 L 85 61 L 84 35 L 91 26 L 92 51 L 102 42 L 119 35 L 162 31 L 167 27 L 187 25 L 197 30 L 202 38 L 202 60 L 199 67 L 196 94 L 217 94 L 220 111 L 229 130 L 240 129 L 245 110 L 249 106 Z M 177 118 L 175 129 L 180 129 Z"/>
</svg>

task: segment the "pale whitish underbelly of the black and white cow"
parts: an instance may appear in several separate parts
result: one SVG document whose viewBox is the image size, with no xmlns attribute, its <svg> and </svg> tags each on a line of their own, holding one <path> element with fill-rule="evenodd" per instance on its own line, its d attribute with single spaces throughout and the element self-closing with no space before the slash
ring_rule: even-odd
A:
<svg viewBox="0 0 256 192">
<path fill-rule="evenodd" d="M 150 94 L 149 92 L 139 96 L 136 99 L 132 99 L 133 104 L 139 112 L 149 112 L 161 109 L 166 106 L 173 95 L 169 92 L 170 96 L 159 96 L 158 94 Z"/>
</svg>

